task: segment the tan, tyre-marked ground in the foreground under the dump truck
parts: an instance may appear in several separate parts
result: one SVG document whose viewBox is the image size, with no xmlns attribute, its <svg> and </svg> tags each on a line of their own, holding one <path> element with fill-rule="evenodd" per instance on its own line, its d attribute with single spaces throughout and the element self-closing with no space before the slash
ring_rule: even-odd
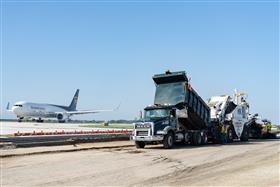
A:
<svg viewBox="0 0 280 187">
<path fill-rule="evenodd" d="M 171 150 L 132 144 L 14 149 L 25 154 L 2 158 L 1 186 L 280 186 L 279 140 Z"/>
</svg>

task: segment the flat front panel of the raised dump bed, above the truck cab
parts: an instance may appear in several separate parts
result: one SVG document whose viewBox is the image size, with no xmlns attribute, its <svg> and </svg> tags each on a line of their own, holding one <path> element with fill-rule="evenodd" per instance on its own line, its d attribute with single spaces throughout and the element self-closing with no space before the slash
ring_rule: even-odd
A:
<svg viewBox="0 0 280 187">
<path fill-rule="evenodd" d="M 185 90 L 183 82 L 159 84 L 156 86 L 155 104 L 176 105 L 184 102 Z"/>
</svg>

